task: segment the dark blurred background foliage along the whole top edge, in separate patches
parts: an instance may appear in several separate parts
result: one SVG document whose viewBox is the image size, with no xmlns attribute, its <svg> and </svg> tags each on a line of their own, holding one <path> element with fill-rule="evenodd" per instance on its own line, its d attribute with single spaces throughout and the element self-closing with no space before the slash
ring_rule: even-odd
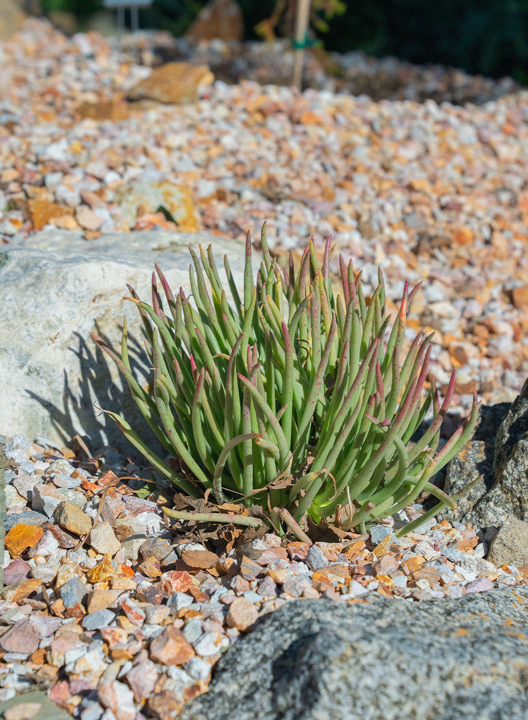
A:
<svg viewBox="0 0 528 720">
<path fill-rule="evenodd" d="M 102 9 L 102 0 L 41 2 L 45 12 L 74 14 L 81 27 Z M 290 36 L 292 2 L 239 0 L 246 39 L 269 36 L 270 26 L 274 35 Z M 140 26 L 183 35 L 204 4 L 154 0 L 140 10 Z M 443 63 L 469 73 L 511 75 L 528 84 L 528 0 L 313 0 L 313 7 L 317 19 L 313 17 L 312 29 L 326 50 Z"/>
</svg>

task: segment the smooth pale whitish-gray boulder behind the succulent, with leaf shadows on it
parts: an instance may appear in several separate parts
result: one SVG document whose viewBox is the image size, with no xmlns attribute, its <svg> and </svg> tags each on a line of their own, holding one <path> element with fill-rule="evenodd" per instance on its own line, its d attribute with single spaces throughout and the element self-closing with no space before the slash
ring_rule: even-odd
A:
<svg viewBox="0 0 528 720">
<path fill-rule="evenodd" d="M 236 282 L 243 244 L 204 233 L 145 231 L 84 240 L 71 230 L 43 230 L 0 254 L 0 434 L 45 436 L 66 444 L 79 433 L 93 451 L 104 444 L 129 449 L 113 420 L 94 408 L 140 422 L 130 392 L 112 361 L 89 338 L 92 331 L 120 350 L 127 316 L 131 359 L 148 375 L 140 316 L 123 300 L 129 283 L 151 302 L 154 263 L 174 292 L 189 292 L 188 246 L 212 244 L 220 273 L 228 253 Z M 155 440 L 147 428 L 145 438 Z"/>
</svg>

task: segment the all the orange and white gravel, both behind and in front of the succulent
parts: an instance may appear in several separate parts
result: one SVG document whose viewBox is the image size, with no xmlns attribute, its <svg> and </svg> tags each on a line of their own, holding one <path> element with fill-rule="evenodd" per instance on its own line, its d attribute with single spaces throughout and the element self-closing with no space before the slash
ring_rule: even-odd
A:
<svg viewBox="0 0 528 720">
<path fill-rule="evenodd" d="M 467 412 L 474 389 L 486 403 L 513 400 L 528 369 L 528 94 L 358 55 L 332 58 L 337 79 L 310 60 L 303 94 L 258 84 L 283 55 L 193 50 L 164 34 L 68 40 L 27 22 L 0 46 L 1 242 L 24 243 L 48 222 L 83 228 L 89 243 L 156 227 L 258 238 L 267 220 L 277 254 L 331 234 L 334 261 L 354 258 L 365 292 L 382 267 L 389 304 L 405 279 L 425 280 L 406 337 L 436 331 L 432 372 L 442 387 L 457 368 L 455 410 Z M 160 58 L 250 79 L 216 81 L 184 106 L 126 102 Z M 393 99 L 350 94 L 369 72 L 373 96 Z M 442 102 L 465 99 L 483 104 Z M 159 183 L 177 186 L 177 225 L 141 207 Z M 207 689 L 223 648 L 292 598 L 416 602 L 527 584 L 526 568 L 483 559 L 491 536 L 479 528 L 431 521 L 396 540 L 420 505 L 368 536 L 313 546 L 272 535 L 241 545 L 232 528 L 213 541 L 171 526 L 158 496 L 136 497 L 138 481 L 117 481 L 145 477 L 133 459 L 0 440 L 10 461 L 1 700 L 42 686 L 82 720 L 163 719 Z"/>
</svg>

